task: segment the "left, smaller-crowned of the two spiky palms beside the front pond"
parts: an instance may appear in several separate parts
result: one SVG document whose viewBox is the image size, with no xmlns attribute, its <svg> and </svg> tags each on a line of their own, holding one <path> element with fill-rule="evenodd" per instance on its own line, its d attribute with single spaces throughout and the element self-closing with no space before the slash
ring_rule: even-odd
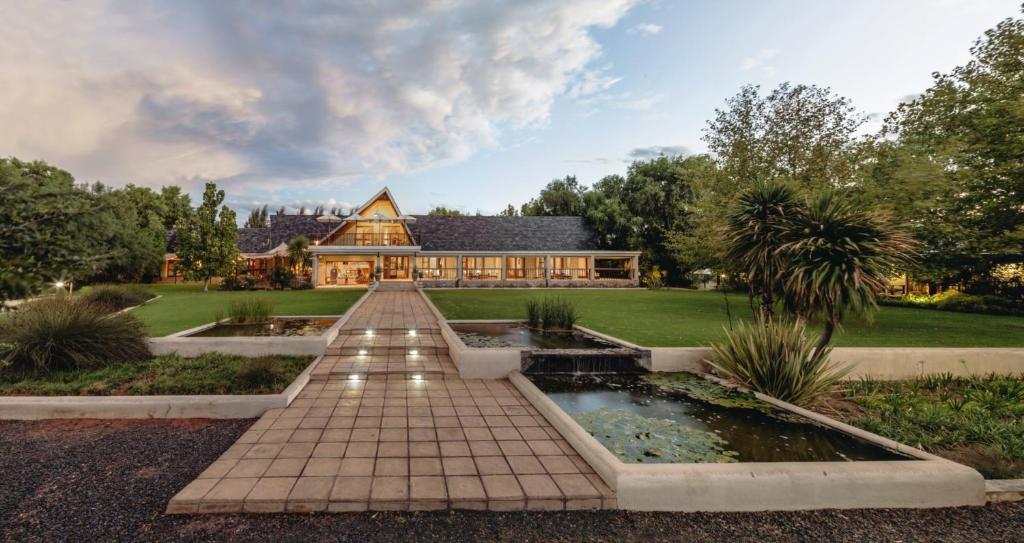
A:
<svg viewBox="0 0 1024 543">
<path fill-rule="evenodd" d="M 785 268 L 785 255 L 779 247 L 796 209 L 796 198 L 787 185 L 758 181 L 739 196 L 737 206 L 726 217 L 728 261 L 746 275 L 751 301 L 759 304 L 766 325 L 782 294 L 779 276 Z"/>
</svg>

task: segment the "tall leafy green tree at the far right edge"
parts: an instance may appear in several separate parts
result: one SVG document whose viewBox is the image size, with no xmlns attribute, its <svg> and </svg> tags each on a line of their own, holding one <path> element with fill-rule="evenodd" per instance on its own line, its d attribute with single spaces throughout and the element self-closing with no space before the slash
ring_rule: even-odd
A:
<svg viewBox="0 0 1024 543">
<path fill-rule="evenodd" d="M 1024 264 L 1024 18 L 985 32 L 971 54 L 890 116 L 882 135 L 895 143 L 879 162 L 892 175 L 868 190 L 911 222 L 926 275 L 990 293 L 997 267 Z M 922 180 L 926 213 L 908 202 Z"/>
</svg>

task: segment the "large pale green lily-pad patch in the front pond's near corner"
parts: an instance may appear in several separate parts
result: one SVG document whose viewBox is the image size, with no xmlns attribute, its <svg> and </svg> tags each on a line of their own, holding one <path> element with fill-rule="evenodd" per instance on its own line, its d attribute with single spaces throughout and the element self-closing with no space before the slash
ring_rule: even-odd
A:
<svg viewBox="0 0 1024 543">
<path fill-rule="evenodd" d="M 608 451 L 629 463 L 735 462 L 736 453 L 715 433 L 678 422 L 602 408 L 572 418 Z"/>
</svg>

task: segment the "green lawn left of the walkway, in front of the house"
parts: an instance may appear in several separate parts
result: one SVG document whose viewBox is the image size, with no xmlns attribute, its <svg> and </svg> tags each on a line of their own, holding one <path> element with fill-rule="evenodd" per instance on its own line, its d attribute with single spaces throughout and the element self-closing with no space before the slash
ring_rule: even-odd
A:
<svg viewBox="0 0 1024 543">
<path fill-rule="evenodd" d="M 341 315 L 365 290 L 260 290 L 203 292 L 202 285 L 152 285 L 146 289 L 162 296 L 159 300 L 132 309 L 145 324 L 152 337 L 166 336 L 212 322 L 219 314 L 227 315 L 232 301 L 251 298 L 273 304 L 273 315 Z"/>
</svg>

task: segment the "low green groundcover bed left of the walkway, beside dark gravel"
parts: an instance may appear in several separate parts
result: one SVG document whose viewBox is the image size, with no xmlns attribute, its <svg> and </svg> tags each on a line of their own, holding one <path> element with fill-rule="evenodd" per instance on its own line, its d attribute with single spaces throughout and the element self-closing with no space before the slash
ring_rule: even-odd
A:
<svg viewBox="0 0 1024 543">
<path fill-rule="evenodd" d="M 284 390 L 312 357 L 272 357 L 275 378 L 264 386 L 237 375 L 249 360 L 221 353 L 182 359 L 165 354 L 144 362 L 112 364 L 95 370 L 52 372 L 19 378 L 0 374 L 0 395 L 263 394 Z"/>
</svg>

